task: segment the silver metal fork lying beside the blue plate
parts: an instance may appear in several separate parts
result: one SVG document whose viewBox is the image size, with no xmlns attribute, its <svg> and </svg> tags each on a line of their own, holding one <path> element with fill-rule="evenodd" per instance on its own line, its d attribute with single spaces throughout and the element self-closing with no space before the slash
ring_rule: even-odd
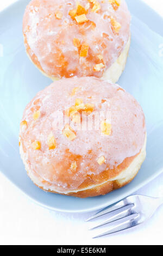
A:
<svg viewBox="0 0 163 256">
<path fill-rule="evenodd" d="M 156 209 L 158 209 L 161 204 L 163 204 L 163 197 L 154 198 L 135 194 L 123 199 L 109 208 L 99 211 L 86 221 L 91 221 L 97 217 L 109 214 L 105 221 L 99 223 L 95 227 L 90 228 L 90 230 L 92 230 L 106 224 L 110 225 L 108 231 L 93 237 L 97 238 L 135 227 L 136 225 L 149 220 L 149 218 L 152 217 Z M 112 216 L 110 216 L 111 214 Z"/>
</svg>

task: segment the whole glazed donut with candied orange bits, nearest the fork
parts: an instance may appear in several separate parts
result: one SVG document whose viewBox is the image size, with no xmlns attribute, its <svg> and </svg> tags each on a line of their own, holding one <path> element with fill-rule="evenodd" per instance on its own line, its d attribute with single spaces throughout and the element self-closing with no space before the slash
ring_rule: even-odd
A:
<svg viewBox="0 0 163 256">
<path fill-rule="evenodd" d="M 145 116 L 117 84 L 64 78 L 37 93 L 24 110 L 20 154 L 42 190 L 106 194 L 133 180 L 145 160 Z"/>
</svg>

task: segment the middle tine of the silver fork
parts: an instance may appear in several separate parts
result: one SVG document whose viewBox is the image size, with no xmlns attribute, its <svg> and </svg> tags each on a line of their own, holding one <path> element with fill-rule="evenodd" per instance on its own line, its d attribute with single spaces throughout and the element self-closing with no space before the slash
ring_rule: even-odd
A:
<svg viewBox="0 0 163 256">
<path fill-rule="evenodd" d="M 124 206 L 120 209 L 115 210 L 114 216 L 109 217 L 106 221 L 99 223 L 98 225 L 96 225 L 95 227 L 90 228 L 89 230 L 99 228 L 102 225 L 109 224 L 109 223 L 115 222 L 117 220 L 120 220 L 121 218 L 130 216 L 131 214 L 133 214 L 133 212 L 131 212 L 131 208 L 133 208 L 133 206 L 134 206 L 134 204 L 130 204 L 130 205 L 127 205 L 127 206 Z"/>
</svg>

